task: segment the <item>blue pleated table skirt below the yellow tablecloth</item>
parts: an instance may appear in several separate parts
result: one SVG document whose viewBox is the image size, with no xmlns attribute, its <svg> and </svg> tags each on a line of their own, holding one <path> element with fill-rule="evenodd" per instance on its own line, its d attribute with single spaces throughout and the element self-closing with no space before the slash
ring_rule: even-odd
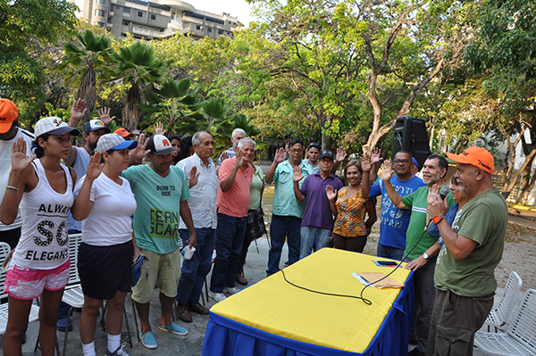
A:
<svg viewBox="0 0 536 356">
<path fill-rule="evenodd" d="M 346 352 L 324 346 L 306 344 L 279 335 L 248 327 L 211 311 L 206 327 L 204 356 L 406 356 L 413 327 L 414 274 L 383 320 L 380 330 L 364 353 Z M 366 291 L 365 291 L 366 294 Z M 364 305 L 364 308 L 366 306 Z M 322 327 L 322 326 L 320 326 Z"/>
</svg>

